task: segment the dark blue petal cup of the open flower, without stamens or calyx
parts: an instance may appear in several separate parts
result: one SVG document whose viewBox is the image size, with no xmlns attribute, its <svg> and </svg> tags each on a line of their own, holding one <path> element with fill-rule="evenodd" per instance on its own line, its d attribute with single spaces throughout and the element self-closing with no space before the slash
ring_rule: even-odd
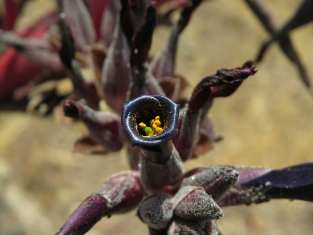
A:
<svg viewBox="0 0 313 235">
<path fill-rule="evenodd" d="M 146 151 L 160 152 L 158 146 L 172 139 L 178 132 L 177 120 L 179 104 L 164 96 L 141 95 L 122 104 L 122 126 L 132 146 Z M 142 136 L 139 123 L 147 123 L 151 118 L 161 117 L 164 130 L 153 136 Z"/>
</svg>

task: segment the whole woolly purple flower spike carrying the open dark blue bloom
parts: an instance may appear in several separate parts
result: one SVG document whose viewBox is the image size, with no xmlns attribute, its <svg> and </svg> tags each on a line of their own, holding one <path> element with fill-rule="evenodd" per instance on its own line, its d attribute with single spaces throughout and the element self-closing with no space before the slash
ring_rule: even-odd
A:
<svg viewBox="0 0 313 235">
<path fill-rule="evenodd" d="M 84 5 L 79 2 L 73 2 L 72 7 L 84 14 Z M 105 34 L 108 50 L 99 63 L 99 57 L 80 47 L 90 36 L 90 28 L 76 24 L 82 29 L 71 30 L 70 22 L 79 21 L 67 1 L 58 1 L 60 59 L 77 96 L 85 99 L 85 103 L 65 101 L 65 115 L 85 123 L 88 138 L 107 153 L 126 145 L 131 170 L 105 180 L 70 215 L 57 235 L 85 234 L 102 217 L 134 208 L 150 234 L 218 235 L 216 220 L 223 217 L 222 206 L 273 198 L 313 201 L 313 163 L 282 170 L 199 166 L 184 171 L 184 161 L 208 152 L 220 139 L 207 117 L 214 98 L 228 97 L 257 71 L 251 61 L 235 69 L 217 70 L 203 78 L 188 99 L 182 97 L 186 80 L 175 75 L 177 42 L 201 2 L 190 0 L 182 7 L 166 46 L 150 60 L 148 51 L 156 24 L 154 3 L 110 1 L 107 17 L 114 28 L 112 34 Z M 79 44 L 75 44 L 77 37 L 81 39 Z M 84 78 L 77 51 L 90 59 L 87 63 L 98 76 L 95 81 Z M 99 111 L 100 100 L 115 113 Z"/>
</svg>

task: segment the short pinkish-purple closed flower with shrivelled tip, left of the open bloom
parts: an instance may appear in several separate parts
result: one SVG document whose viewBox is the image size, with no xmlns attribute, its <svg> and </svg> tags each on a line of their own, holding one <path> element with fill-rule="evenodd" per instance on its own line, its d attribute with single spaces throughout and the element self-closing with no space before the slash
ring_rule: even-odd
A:
<svg viewBox="0 0 313 235">
<path fill-rule="evenodd" d="M 121 118 L 110 112 L 100 112 L 77 102 L 66 100 L 65 116 L 81 120 L 90 132 L 90 137 L 108 151 L 118 151 L 123 146 Z"/>
</svg>

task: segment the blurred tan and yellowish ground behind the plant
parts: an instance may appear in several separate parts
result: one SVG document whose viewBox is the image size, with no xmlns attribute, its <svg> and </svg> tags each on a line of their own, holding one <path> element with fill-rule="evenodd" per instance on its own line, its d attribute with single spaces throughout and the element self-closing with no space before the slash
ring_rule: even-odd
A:
<svg viewBox="0 0 313 235">
<path fill-rule="evenodd" d="M 0 1 L 2 3 L 3 1 Z M 264 0 L 281 23 L 301 0 Z M 1 4 L 2 5 L 2 4 Z M 54 8 L 53 0 L 29 1 L 16 27 L 31 25 Z M 3 9 L 2 9 L 3 10 Z M 312 24 L 290 33 L 313 82 Z M 151 55 L 167 39 L 158 27 Z M 204 1 L 183 31 L 177 73 L 193 86 L 220 68 L 241 66 L 254 59 L 269 38 L 242 0 Z M 230 97 L 214 101 L 209 115 L 215 132 L 224 137 L 215 149 L 189 160 L 198 165 L 264 165 L 272 168 L 313 160 L 313 98 L 278 45 L 270 46 L 258 72 Z M 81 201 L 110 175 L 128 169 L 125 149 L 101 155 L 71 153 L 82 123 L 63 124 L 52 115 L 40 117 L 8 110 L 0 101 L 0 234 L 55 234 Z M 218 221 L 225 235 L 312 234 L 313 204 L 272 200 L 260 205 L 223 208 Z M 136 211 L 103 218 L 89 235 L 147 234 Z"/>
</svg>

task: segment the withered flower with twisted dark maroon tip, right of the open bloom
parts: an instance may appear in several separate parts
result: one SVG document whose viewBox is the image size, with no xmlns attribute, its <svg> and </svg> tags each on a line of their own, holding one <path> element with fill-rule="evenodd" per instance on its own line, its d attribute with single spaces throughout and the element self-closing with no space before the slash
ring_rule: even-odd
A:
<svg viewBox="0 0 313 235">
<path fill-rule="evenodd" d="M 180 112 L 179 132 L 173 139 L 183 161 L 192 157 L 200 138 L 200 126 L 213 98 L 231 95 L 244 79 L 254 75 L 256 71 L 255 67 L 252 67 L 252 62 L 247 61 L 239 68 L 217 70 L 215 75 L 205 77 L 198 83 L 187 105 Z"/>
</svg>

